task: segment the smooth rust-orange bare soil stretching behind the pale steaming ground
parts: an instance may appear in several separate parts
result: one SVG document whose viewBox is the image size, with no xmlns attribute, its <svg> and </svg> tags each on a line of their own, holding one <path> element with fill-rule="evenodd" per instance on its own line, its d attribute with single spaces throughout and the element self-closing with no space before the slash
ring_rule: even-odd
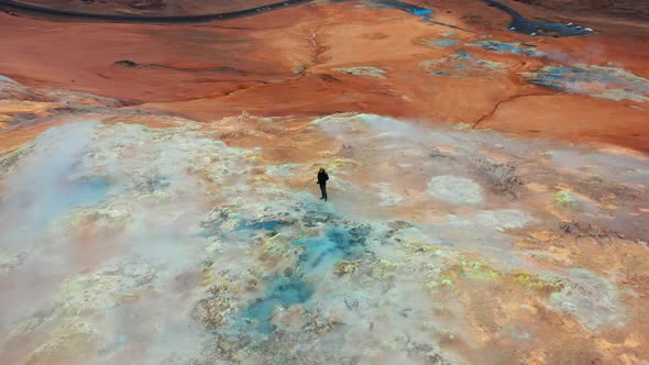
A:
<svg viewBox="0 0 649 365">
<path fill-rule="evenodd" d="M 430 3 L 436 21 L 474 33 L 355 2 L 314 3 L 254 18 L 175 26 L 0 14 L 4 35 L 0 74 L 25 85 L 91 92 L 204 122 L 242 110 L 257 115 L 363 111 L 649 152 L 646 103 L 563 95 L 529 85 L 516 74 L 543 64 L 613 63 L 647 78 L 649 47 L 640 46 L 649 36 L 646 25 L 606 25 L 598 20 L 602 34 L 531 38 L 507 32 L 508 15 L 480 1 Z M 534 7 L 516 7 L 530 18 L 552 19 Z M 424 44 L 448 33 L 455 33 L 458 46 Z M 535 41 L 539 49 L 561 57 L 548 60 L 462 45 L 486 34 L 502 42 Z M 505 64 L 508 71 L 452 78 L 432 76 L 420 66 L 462 47 Z M 141 66 L 114 65 L 121 59 Z M 381 68 L 386 78 L 333 70 L 355 66 Z"/>
</svg>

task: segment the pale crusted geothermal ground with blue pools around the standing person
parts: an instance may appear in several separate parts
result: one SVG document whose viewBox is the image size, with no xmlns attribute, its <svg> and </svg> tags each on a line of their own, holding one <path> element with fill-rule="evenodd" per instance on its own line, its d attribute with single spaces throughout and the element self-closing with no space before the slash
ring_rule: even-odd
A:
<svg viewBox="0 0 649 365">
<path fill-rule="evenodd" d="M 229 128 L 282 123 L 253 120 Z M 495 364 L 550 339 L 606 360 L 634 356 L 596 350 L 609 331 L 647 341 L 646 288 L 625 284 L 647 267 L 644 157 L 338 114 L 290 132 L 327 155 L 278 165 L 188 121 L 128 121 L 53 126 L 2 159 L 10 362 Z"/>
</svg>

